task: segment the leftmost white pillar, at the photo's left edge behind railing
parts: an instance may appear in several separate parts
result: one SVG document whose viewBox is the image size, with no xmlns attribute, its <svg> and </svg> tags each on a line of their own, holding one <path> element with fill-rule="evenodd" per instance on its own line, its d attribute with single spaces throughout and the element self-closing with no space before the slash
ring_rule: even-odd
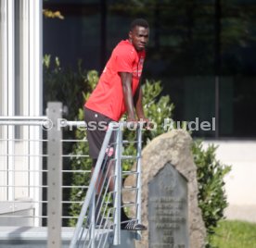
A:
<svg viewBox="0 0 256 248">
<path fill-rule="evenodd" d="M 14 115 L 15 107 L 15 86 L 14 86 L 14 75 L 15 75 L 15 47 L 14 47 L 14 0 L 1 0 L 1 48 L 0 48 L 0 77 L 1 77 L 1 115 Z M 1 138 L 14 139 L 14 128 L 9 126 L 2 128 Z M 14 142 L 1 143 L 1 153 L 13 154 L 14 153 Z M 1 169 L 6 169 L 6 173 L 1 173 L 1 184 L 13 185 L 14 183 L 14 158 L 7 156 L 3 159 L 3 165 Z M 2 188 L 2 187 L 1 187 Z M 4 197 L 7 200 L 13 200 L 14 189 L 10 187 L 2 188 L 1 192 L 4 193 Z M 6 200 L 4 199 L 4 200 Z"/>
</svg>

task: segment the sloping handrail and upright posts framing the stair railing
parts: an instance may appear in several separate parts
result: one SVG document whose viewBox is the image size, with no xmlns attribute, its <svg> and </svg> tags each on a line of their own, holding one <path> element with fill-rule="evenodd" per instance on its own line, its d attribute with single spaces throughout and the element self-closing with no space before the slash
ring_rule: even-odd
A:
<svg viewBox="0 0 256 248">
<path fill-rule="evenodd" d="M 135 128 L 136 130 L 136 134 L 137 134 L 137 154 L 134 156 L 125 156 L 122 155 L 122 131 L 124 130 L 124 128 L 129 127 L 129 123 L 127 122 L 111 122 L 109 124 L 109 129 L 106 132 L 106 136 L 104 139 L 104 142 L 102 144 L 97 162 L 96 162 L 96 167 L 94 169 L 94 173 L 92 175 L 91 178 L 91 182 L 89 185 L 89 188 L 87 190 L 84 202 L 83 202 L 83 206 L 82 206 L 82 210 L 80 213 L 80 216 L 78 218 L 77 224 L 76 224 L 76 228 L 74 230 L 73 236 L 72 236 L 72 240 L 70 242 L 70 248 L 74 248 L 74 247 L 79 247 L 79 244 L 84 244 L 86 241 L 86 235 L 90 235 L 90 241 L 88 246 L 86 247 L 96 247 L 96 232 L 95 232 L 95 225 L 96 225 L 96 217 L 95 217 L 95 209 L 96 209 L 96 203 L 95 203 L 95 192 L 96 192 L 96 181 L 99 177 L 99 172 L 101 170 L 102 167 L 102 163 L 104 160 L 104 156 L 106 155 L 106 149 L 109 145 L 109 140 L 110 140 L 110 136 L 112 135 L 113 131 L 116 131 L 116 149 L 115 149 L 115 155 L 114 158 L 112 159 L 115 162 L 115 187 L 114 187 L 114 192 L 113 193 L 113 199 L 114 199 L 114 205 L 112 207 L 114 216 L 113 216 L 113 244 L 114 245 L 118 245 L 121 244 L 121 207 L 122 206 L 122 199 L 121 199 L 121 192 L 122 192 L 122 160 L 123 159 L 129 159 L 129 158 L 135 158 L 136 159 L 136 163 L 137 163 L 137 168 L 136 171 L 134 172 L 137 175 L 137 181 L 136 181 L 136 199 L 135 199 L 135 203 L 134 205 L 136 206 L 136 215 L 135 215 L 135 219 L 140 223 L 141 220 L 141 196 L 139 195 L 141 190 L 140 190 L 140 183 L 141 183 L 141 179 L 140 179 L 140 173 L 141 173 L 141 142 L 142 142 L 142 125 L 143 123 L 138 122 L 139 125 L 137 125 Z M 127 143 L 126 141 L 124 143 Z M 133 143 L 133 142 L 132 142 Z M 106 172 L 107 174 L 107 172 Z M 108 182 L 108 186 L 109 186 L 109 182 Z M 107 186 L 107 187 L 108 187 Z M 101 189 L 102 191 L 102 189 Z M 104 194 L 104 196 L 106 196 L 106 192 Z M 109 200 L 108 200 L 109 201 Z M 86 223 L 84 225 L 84 218 L 86 217 L 86 213 L 88 211 L 88 208 L 90 207 L 90 214 L 87 215 L 88 217 L 91 217 L 92 223 L 88 226 L 88 223 Z M 106 210 L 106 209 L 105 209 Z M 104 211 L 105 211 L 104 210 Z M 92 216 L 93 215 L 93 216 Z M 108 214 L 109 217 L 109 214 Z M 85 221 L 86 222 L 86 221 Z M 88 230 L 87 233 L 85 233 L 86 231 L 84 230 L 85 227 L 87 226 Z M 107 228 L 108 229 L 108 228 Z M 89 233 L 89 234 L 88 234 Z M 97 236 L 98 237 L 98 236 Z M 100 246 L 97 247 L 103 247 L 102 246 L 102 241 L 99 240 Z M 105 243 L 106 243 L 106 239 L 105 239 Z"/>
</svg>

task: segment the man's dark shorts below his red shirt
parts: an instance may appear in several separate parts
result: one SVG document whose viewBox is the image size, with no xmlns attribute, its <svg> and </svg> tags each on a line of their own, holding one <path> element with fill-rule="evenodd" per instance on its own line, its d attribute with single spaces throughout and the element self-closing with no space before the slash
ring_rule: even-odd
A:
<svg viewBox="0 0 256 248">
<path fill-rule="evenodd" d="M 99 155 L 101 145 L 108 130 L 109 122 L 114 121 L 96 111 L 84 107 L 84 121 L 86 124 L 87 140 L 89 143 L 89 155 L 96 159 Z M 113 147 L 114 133 L 110 137 L 109 145 Z M 109 155 L 112 155 L 113 148 L 109 148 Z"/>
</svg>

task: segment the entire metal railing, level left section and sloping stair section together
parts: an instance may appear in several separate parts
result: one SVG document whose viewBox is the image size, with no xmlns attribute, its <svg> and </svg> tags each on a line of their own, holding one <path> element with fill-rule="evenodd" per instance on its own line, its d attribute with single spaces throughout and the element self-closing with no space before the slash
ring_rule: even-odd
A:
<svg viewBox="0 0 256 248">
<path fill-rule="evenodd" d="M 63 119 L 62 105 L 59 103 L 49 103 L 47 116 L 43 117 L 0 117 L 0 223 L 2 225 L 47 226 L 48 248 L 56 248 L 61 247 L 61 228 L 69 226 L 68 220 L 73 219 L 77 223 L 70 247 L 79 245 L 104 247 L 107 242 L 120 243 L 121 207 L 134 206 L 134 218 L 140 222 L 141 126 L 138 125 L 135 129 L 136 139 L 129 142 L 122 140 L 122 132 L 127 124 L 111 123 L 103 147 L 112 146 L 115 154 L 106 156 L 104 152 L 106 147 L 102 148 L 89 186 L 84 183 L 63 185 L 63 181 L 66 182 L 67 178 L 70 179 L 74 174 L 80 173 L 88 175 L 87 177 L 91 174 L 90 168 L 70 167 L 73 159 L 90 159 L 88 154 L 74 154 L 73 145 L 70 145 L 70 143 L 85 144 L 86 139 L 73 139 L 72 136 L 66 135 L 70 129 L 83 125 L 83 121 Z M 15 134 L 17 127 L 21 130 L 19 137 Z M 112 134 L 115 135 L 116 140 L 109 144 L 108 137 Z M 124 155 L 125 145 L 131 143 L 136 146 L 136 154 Z M 122 173 L 122 164 L 128 163 L 127 161 L 131 164 L 135 162 L 136 169 Z M 115 169 L 114 176 L 108 178 L 106 175 L 111 168 L 110 164 Z M 135 187 L 122 188 L 124 174 L 135 175 Z M 102 182 L 101 185 L 96 185 L 99 176 L 102 177 Z M 112 180 L 115 186 L 109 191 L 108 185 Z M 84 202 L 81 197 L 70 200 L 72 189 L 82 189 L 83 192 L 87 192 Z M 96 191 L 100 192 L 103 201 L 95 202 Z M 122 191 L 135 192 L 133 203 L 122 205 Z M 103 216 L 101 219 L 94 214 L 99 204 Z M 80 217 L 72 216 L 68 212 L 70 205 L 78 205 L 82 208 Z M 108 223 L 112 224 L 108 225 Z"/>
</svg>

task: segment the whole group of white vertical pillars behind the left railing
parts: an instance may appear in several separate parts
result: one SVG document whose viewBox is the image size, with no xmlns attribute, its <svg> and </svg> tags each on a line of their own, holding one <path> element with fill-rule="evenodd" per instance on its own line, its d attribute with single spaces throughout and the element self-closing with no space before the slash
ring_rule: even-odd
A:
<svg viewBox="0 0 256 248">
<path fill-rule="evenodd" d="M 15 115 L 15 95 L 18 94 L 21 115 L 42 116 L 43 0 L 0 0 L 0 11 L 0 115 Z M 15 92 L 17 89 L 20 92 Z M 41 137 L 42 130 L 39 127 L 26 128 L 21 136 L 23 139 L 33 141 L 41 140 Z M 13 140 L 15 138 L 14 128 L 11 126 L 0 128 L 0 138 Z M 1 154 L 15 153 L 13 141 L 8 143 L 0 141 L 0 148 Z M 39 142 L 23 143 L 22 148 L 25 154 L 42 154 L 42 143 Z M 22 153 L 19 151 L 19 154 Z M 0 172 L 0 184 L 18 183 L 12 172 L 13 169 L 21 168 L 18 161 L 16 167 L 13 156 L 0 158 L 0 162 L 0 169 L 6 169 L 6 173 Z M 32 156 L 25 164 L 26 167 L 22 167 L 23 169 L 41 170 L 42 157 Z M 36 186 L 42 185 L 42 173 L 28 172 L 27 185 L 30 189 L 28 196 L 34 201 L 41 201 L 42 190 Z M 0 193 L 0 200 L 3 201 L 12 201 L 20 197 L 19 190 L 15 191 L 13 187 L 8 189 L 1 187 Z M 35 206 L 35 215 L 41 216 L 41 204 Z M 35 225 L 40 225 L 39 219 L 35 218 L 35 220 Z"/>
</svg>

